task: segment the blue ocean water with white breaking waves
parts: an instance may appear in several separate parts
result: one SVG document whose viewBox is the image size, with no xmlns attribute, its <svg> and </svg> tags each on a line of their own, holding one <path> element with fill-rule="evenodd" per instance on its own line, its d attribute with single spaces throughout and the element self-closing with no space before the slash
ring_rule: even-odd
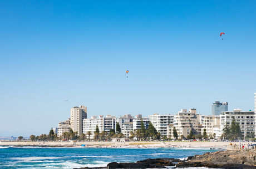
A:
<svg viewBox="0 0 256 169">
<path fill-rule="evenodd" d="M 186 158 L 216 150 L 196 148 L 42 148 L 0 147 L 0 168 L 103 167 L 109 162 L 146 158 Z"/>
</svg>

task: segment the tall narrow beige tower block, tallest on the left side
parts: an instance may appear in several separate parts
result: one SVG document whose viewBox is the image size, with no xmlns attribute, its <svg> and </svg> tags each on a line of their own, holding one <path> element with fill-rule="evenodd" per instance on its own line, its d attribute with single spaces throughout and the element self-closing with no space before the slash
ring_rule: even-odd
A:
<svg viewBox="0 0 256 169">
<path fill-rule="evenodd" d="M 78 135 L 83 133 L 83 119 L 87 118 L 87 107 L 76 106 L 70 110 L 70 125 L 73 132 Z"/>
</svg>

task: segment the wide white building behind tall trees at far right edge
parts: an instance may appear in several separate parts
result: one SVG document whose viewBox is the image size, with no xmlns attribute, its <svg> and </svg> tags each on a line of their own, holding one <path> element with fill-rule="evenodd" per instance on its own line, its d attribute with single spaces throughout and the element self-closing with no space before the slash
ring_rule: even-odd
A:
<svg viewBox="0 0 256 169">
<path fill-rule="evenodd" d="M 240 125 L 241 136 L 250 136 L 255 134 L 255 114 L 254 111 L 242 111 L 234 109 L 233 111 L 224 111 L 220 114 L 220 130 L 223 134 L 225 125 L 231 125 L 233 118 Z"/>
</svg>

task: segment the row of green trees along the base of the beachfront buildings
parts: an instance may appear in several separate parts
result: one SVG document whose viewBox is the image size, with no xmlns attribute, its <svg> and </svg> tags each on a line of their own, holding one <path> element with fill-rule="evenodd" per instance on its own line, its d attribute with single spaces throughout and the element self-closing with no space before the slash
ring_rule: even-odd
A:
<svg viewBox="0 0 256 169">
<path fill-rule="evenodd" d="M 255 141 L 255 138 L 251 138 L 251 136 L 248 137 L 241 137 L 241 130 L 240 126 L 237 122 L 235 122 L 235 119 L 232 120 L 231 125 L 226 125 L 223 129 L 223 134 L 220 137 L 219 141 L 237 141 L 237 140 L 245 140 L 249 139 L 250 141 Z M 170 134 L 171 135 L 171 134 Z M 185 140 L 216 140 L 215 135 L 210 135 L 208 136 L 206 134 L 206 131 L 204 129 L 203 135 L 198 134 L 198 135 L 193 135 L 192 130 L 190 130 L 190 134 L 187 137 L 184 137 L 183 135 L 179 136 L 178 132 L 176 131 L 175 127 L 173 128 L 172 135 L 174 139 L 171 139 L 170 137 L 162 137 L 160 132 L 157 132 L 155 129 L 154 125 L 149 123 L 149 127 L 146 129 L 143 122 L 141 122 L 140 129 L 136 129 L 134 131 L 130 132 L 130 137 L 126 138 L 132 140 L 132 141 L 185 141 Z M 41 134 L 39 136 L 31 135 L 29 137 L 29 140 L 31 141 L 70 141 L 70 140 L 75 140 L 75 141 L 112 141 L 114 138 L 117 140 L 122 139 L 125 137 L 124 134 L 121 132 L 121 127 L 119 123 L 117 122 L 116 124 L 116 129 L 111 129 L 109 132 L 107 131 L 102 131 L 100 132 L 99 127 L 96 125 L 95 131 L 93 132 L 93 139 L 91 139 L 92 132 L 88 131 L 86 134 L 82 133 L 81 135 L 78 135 L 77 132 L 73 132 L 72 129 L 70 129 L 70 132 L 63 132 L 63 134 L 58 137 L 57 134 L 51 129 L 49 134 Z M 178 139 L 179 138 L 179 139 Z M 22 141 L 23 136 L 19 136 L 18 141 Z"/>
</svg>

